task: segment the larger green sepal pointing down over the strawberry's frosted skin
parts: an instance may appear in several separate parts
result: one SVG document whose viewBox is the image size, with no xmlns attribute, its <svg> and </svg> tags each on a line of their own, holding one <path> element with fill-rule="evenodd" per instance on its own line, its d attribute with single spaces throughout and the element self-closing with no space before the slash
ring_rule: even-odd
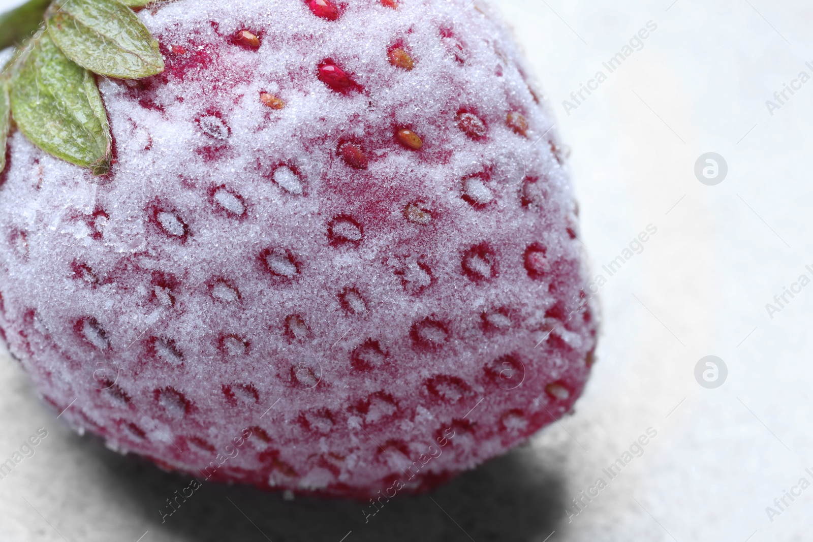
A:
<svg viewBox="0 0 813 542">
<path fill-rule="evenodd" d="M 29 141 L 46 153 L 104 175 L 112 139 L 93 74 L 41 34 L 11 80 L 11 111 Z"/>
</svg>

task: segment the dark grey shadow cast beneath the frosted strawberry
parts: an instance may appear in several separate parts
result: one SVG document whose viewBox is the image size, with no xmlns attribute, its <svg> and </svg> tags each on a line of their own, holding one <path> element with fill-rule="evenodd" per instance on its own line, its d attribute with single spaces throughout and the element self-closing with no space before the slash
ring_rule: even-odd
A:
<svg viewBox="0 0 813 542">
<path fill-rule="evenodd" d="M 140 508 L 144 528 L 178 540 L 339 542 L 352 531 L 346 542 L 531 542 L 558 529 L 565 508 L 561 467 L 523 446 L 431 492 L 382 499 L 375 515 L 369 502 L 315 496 L 285 501 L 282 492 L 204 482 L 162 522 L 171 511 L 167 498 L 188 488 L 191 478 L 113 453 L 95 436 L 76 438 Z"/>
</svg>

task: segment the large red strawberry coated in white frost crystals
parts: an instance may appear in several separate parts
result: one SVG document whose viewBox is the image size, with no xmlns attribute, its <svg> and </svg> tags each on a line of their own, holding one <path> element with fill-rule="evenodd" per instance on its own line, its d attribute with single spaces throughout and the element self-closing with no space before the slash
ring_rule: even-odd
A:
<svg viewBox="0 0 813 542">
<path fill-rule="evenodd" d="M 11 87 L 0 328 L 63 419 L 164 468 L 375 496 L 572 410 L 597 329 L 576 206 L 509 33 L 467 4 L 138 11 L 160 58 L 98 76 L 86 158 Z M 108 71 L 60 28 L 59 69 Z"/>
</svg>

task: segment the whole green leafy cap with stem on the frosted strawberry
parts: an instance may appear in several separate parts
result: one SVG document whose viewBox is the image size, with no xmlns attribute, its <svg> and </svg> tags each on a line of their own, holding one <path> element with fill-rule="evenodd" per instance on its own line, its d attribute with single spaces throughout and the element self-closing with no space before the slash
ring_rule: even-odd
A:
<svg viewBox="0 0 813 542">
<path fill-rule="evenodd" d="M 163 72 L 158 41 L 133 11 L 148 3 L 29 0 L 0 15 L 0 48 L 16 46 L 0 75 L 0 171 L 13 117 L 46 153 L 93 176 L 110 172 L 113 137 L 95 76 L 141 79 Z M 66 127 L 79 135 L 65 141 Z"/>
</svg>

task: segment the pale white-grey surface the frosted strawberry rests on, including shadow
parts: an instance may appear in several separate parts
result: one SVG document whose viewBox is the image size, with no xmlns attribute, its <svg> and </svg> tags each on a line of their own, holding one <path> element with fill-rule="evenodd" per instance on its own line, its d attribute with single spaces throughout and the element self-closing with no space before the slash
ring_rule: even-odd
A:
<svg viewBox="0 0 813 542">
<path fill-rule="evenodd" d="M 810 538 L 813 490 L 773 522 L 765 507 L 802 476 L 813 482 L 805 473 L 813 288 L 773 319 L 765 304 L 811 275 L 813 82 L 773 116 L 765 101 L 798 72 L 813 75 L 805 67 L 813 7 L 670 2 L 500 2 L 572 147 L 595 271 L 648 224 L 658 228 L 601 288 L 598 362 L 575 416 L 543 431 L 533 449 L 433 493 L 442 513 L 428 497 L 404 499 L 364 525 L 352 503 L 204 488 L 161 525 L 159 505 L 185 481 L 72 436 L 3 362 L 0 458 L 37 427 L 50 435 L 0 480 L 0 540 L 63 540 L 57 531 L 66 540 L 135 541 L 145 531 L 143 542 L 266 540 L 226 496 L 275 542 L 338 541 L 347 531 L 346 542 L 469 540 L 463 530 L 476 542 L 541 542 L 554 529 L 551 542 Z M 643 49 L 566 115 L 563 99 L 649 20 L 658 29 Z M 717 186 L 693 174 L 709 151 L 728 162 Z M 707 354 L 728 365 L 721 388 L 694 379 Z M 567 501 L 648 427 L 658 436 L 643 456 L 568 524 Z"/>
</svg>

